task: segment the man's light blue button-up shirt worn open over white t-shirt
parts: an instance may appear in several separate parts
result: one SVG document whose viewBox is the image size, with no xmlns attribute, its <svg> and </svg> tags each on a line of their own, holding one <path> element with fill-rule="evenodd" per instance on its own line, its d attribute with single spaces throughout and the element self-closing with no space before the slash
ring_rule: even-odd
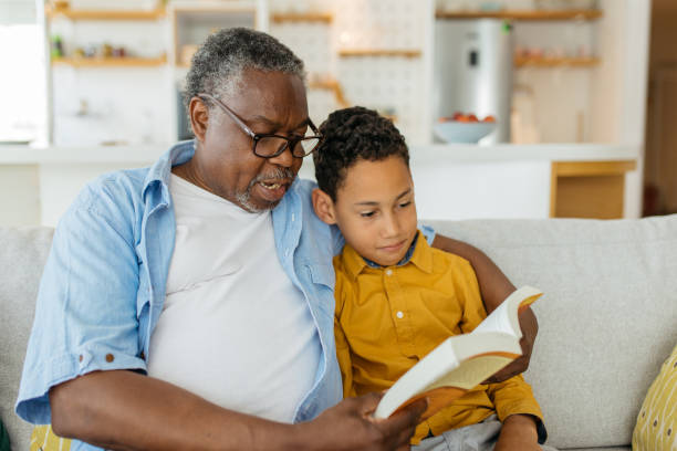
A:
<svg viewBox="0 0 677 451">
<path fill-rule="evenodd" d="M 171 167 L 192 158 L 194 143 L 174 146 L 150 168 L 112 172 L 90 183 L 61 219 L 40 283 L 17 413 L 50 423 L 48 391 L 77 376 L 112 369 L 145 371 L 150 335 L 165 301 L 176 223 Z M 313 211 L 315 183 L 296 179 L 272 222 L 284 272 L 303 293 L 321 345 L 312 388 L 294 422 L 342 398 L 334 345 L 332 258 L 343 237 Z M 431 239 L 431 230 L 426 230 Z M 73 442 L 72 450 L 97 450 Z"/>
</svg>

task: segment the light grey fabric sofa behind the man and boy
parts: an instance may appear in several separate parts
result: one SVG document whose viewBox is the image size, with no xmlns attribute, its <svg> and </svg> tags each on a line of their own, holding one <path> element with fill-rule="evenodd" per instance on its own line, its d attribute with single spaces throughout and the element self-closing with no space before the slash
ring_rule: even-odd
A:
<svg viewBox="0 0 677 451">
<path fill-rule="evenodd" d="M 677 216 L 643 220 L 429 221 L 483 249 L 517 285 L 540 287 L 527 379 L 559 449 L 629 449 L 639 406 L 677 343 Z M 0 229 L 0 418 L 13 403 L 52 230 Z"/>
</svg>

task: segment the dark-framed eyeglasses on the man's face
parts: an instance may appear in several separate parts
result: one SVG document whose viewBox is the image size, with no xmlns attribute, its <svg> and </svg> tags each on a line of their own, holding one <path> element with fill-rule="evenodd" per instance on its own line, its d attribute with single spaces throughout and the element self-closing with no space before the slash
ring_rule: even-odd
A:
<svg viewBox="0 0 677 451">
<path fill-rule="evenodd" d="M 305 136 L 282 136 L 274 135 L 268 133 L 253 133 L 251 128 L 244 124 L 242 119 L 238 117 L 237 114 L 225 103 L 212 96 L 211 94 L 200 93 L 198 94 L 202 101 L 206 98 L 212 101 L 218 106 L 221 107 L 229 116 L 235 120 L 236 124 L 247 135 L 251 137 L 253 140 L 252 151 L 256 156 L 261 158 L 273 158 L 278 155 L 282 154 L 288 148 L 291 149 L 292 156 L 296 158 L 303 158 L 315 150 L 320 141 L 322 140 L 322 135 L 317 132 L 317 127 L 313 124 L 313 122 L 309 118 L 308 125 L 314 135 L 305 135 Z"/>
</svg>

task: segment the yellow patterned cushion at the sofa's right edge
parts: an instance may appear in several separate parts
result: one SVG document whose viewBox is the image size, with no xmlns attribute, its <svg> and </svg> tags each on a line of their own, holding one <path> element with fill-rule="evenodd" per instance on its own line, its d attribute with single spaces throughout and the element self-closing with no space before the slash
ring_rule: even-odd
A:
<svg viewBox="0 0 677 451">
<path fill-rule="evenodd" d="M 660 366 L 637 416 L 635 451 L 677 449 L 677 346 Z"/>
</svg>

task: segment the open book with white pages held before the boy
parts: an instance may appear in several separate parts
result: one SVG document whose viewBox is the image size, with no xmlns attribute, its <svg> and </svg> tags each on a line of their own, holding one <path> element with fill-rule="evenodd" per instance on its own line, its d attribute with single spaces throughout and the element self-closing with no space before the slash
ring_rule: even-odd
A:
<svg viewBox="0 0 677 451">
<path fill-rule="evenodd" d="M 523 286 L 470 334 L 444 340 L 386 391 L 374 417 L 388 418 L 417 399 L 428 398 L 425 420 L 521 356 L 519 313 L 542 294 Z"/>
</svg>

